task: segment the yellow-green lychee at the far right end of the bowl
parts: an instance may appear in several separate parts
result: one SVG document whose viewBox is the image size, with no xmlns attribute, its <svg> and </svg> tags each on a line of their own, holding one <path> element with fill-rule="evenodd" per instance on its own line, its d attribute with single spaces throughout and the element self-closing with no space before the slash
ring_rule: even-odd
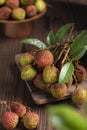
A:
<svg viewBox="0 0 87 130">
<path fill-rule="evenodd" d="M 35 6 L 37 8 L 37 11 L 40 13 L 46 9 L 46 3 L 44 0 L 36 0 Z"/>
</svg>

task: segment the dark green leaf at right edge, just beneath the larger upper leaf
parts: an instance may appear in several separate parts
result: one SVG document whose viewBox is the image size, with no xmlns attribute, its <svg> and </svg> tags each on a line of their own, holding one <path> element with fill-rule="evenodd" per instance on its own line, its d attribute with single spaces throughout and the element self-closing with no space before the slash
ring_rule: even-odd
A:
<svg viewBox="0 0 87 130">
<path fill-rule="evenodd" d="M 79 60 L 87 51 L 87 46 L 79 48 L 72 56 L 72 60 Z"/>
</svg>

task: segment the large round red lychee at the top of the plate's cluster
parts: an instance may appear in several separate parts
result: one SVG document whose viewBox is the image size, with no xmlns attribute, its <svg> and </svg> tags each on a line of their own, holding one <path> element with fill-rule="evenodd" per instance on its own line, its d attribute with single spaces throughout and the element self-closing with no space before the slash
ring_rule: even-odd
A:
<svg viewBox="0 0 87 130">
<path fill-rule="evenodd" d="M 43 49 L 36 53 L 35 61 L 39 67 L 45 67 L 53 64 L 54 56 L 50 50 Z"/>
</svg>

